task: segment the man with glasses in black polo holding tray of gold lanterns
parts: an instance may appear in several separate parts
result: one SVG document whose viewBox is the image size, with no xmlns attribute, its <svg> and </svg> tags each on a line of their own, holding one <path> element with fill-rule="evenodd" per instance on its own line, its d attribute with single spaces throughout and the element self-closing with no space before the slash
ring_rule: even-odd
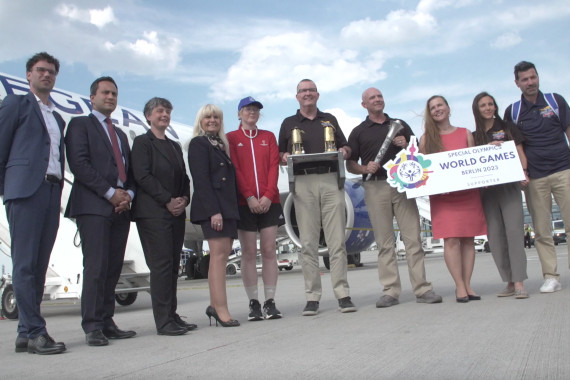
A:
<svg viewBox="0 0 570 380">
<path fill-rule="evenodd" d="M 313 81 L 303 79 L 299 82 L 297 100 L 300 108 L 295 115 L 283 120 L 279 132 L 279 154 L 283 164 L 287 163 L 287 157 L 291 154 L 291 131 L 295 127 L 304 132 L 305 153 L 323 153 L 323 126 L 332 125 L 335 129 L 336 148 L 342 152 L 345 159 L 350 156 L 350 148 L 336 118 L 317 108 L 318 99 L 319 93 Z M 319 310 L 322 294 L 318 254 L 321 223 L 329 251 L 331 281 L 339 309 L 343 313 L 356 311 L 350 300 L 346 275 L 346 211 L 344 189 L 338 188 L 338 165 L 312 166 L 303 167 L 303 174 L 296 175 L 293 198 L 302 243 L 300 259 L 307 297 L 303 315 L 316 315 Z"/>
</svg>

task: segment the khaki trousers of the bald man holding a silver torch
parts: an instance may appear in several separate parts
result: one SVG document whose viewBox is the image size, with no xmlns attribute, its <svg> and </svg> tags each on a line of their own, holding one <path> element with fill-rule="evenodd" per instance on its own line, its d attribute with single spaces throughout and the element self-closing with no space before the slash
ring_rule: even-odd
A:
<svg viewBox="0 0 570 380">
<path fill-rule="evenodd" d="M 432 285 L 426 281 L 416 201 L 408 199 L 405 193 L 399 193 L 386 180 L 366 181 L 363 186 L 366 208 L 378 244 L 378 276 L 384 286 L 384 294 L 398 299 L 402 291 L 394 249 L 393 219 L 396 216 L 406 248 L 410 282 L 416 297 L 422 296 L 432 290 Z"/>
</svg>

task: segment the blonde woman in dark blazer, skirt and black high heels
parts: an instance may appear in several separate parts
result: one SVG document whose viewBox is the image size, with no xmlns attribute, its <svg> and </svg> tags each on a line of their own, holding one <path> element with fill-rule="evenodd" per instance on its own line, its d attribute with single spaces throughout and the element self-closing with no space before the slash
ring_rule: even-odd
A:
<svg viewBox="0 0 570 380">
<path fill-rule="evenodd" d="M 194 180 L 190 207 L 192 223 L 200 224 L 210 246 L 210 306 L 206 315 L 224 327 L 239 326 L 228 310 L 226 264 L 237 238 L 239 219 L 235 168 L 229 156 L 222 110 L 212 104 L 200 108 L 194 138 L 188 147 L 188 166 Z"/>
</svg>

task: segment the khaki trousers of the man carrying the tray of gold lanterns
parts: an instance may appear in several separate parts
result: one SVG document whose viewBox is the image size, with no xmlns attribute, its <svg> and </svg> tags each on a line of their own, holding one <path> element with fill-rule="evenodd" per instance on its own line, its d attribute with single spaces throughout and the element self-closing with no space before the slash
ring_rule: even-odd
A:
<svg viewBox="0 0 570 380">
<path fill-rule="evenodd" d="M 330 259 L 333 291 L 337 299 L 348 297 L 347 258 L 344 243 L 346 211 L 344 189 L 339 190 L 337 173 L 295 176 L 295 215 L 301 239 L 301 267 L 307 301 L 322 295 L 318 244 L 321 222 Z"/>
</svg>

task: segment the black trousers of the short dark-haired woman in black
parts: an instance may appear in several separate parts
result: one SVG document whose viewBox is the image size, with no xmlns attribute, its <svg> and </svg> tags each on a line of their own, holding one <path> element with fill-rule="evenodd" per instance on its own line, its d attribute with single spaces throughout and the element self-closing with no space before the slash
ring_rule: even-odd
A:
<svg viewBox="0 0 570 380">
<path fill-rule="evenodd" d="M 185 218 L 137 219 L 137 229 L 150 269 L 150 296 L 157 329 L 173 321 L 178 306 L 176 288 Z"/>
</svg>

